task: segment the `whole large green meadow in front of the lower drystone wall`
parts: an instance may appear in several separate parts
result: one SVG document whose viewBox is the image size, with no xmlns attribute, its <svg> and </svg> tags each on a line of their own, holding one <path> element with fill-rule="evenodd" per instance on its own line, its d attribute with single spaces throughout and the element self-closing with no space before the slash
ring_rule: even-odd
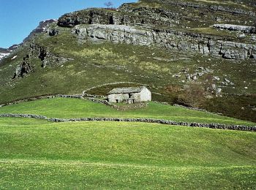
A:
<svg viewBox="0 0 256 190">
<path fill-rule="evenodd" d="M 0 118 L 0 189 L 254 189 L 256 133 Z"/>
</svg>

